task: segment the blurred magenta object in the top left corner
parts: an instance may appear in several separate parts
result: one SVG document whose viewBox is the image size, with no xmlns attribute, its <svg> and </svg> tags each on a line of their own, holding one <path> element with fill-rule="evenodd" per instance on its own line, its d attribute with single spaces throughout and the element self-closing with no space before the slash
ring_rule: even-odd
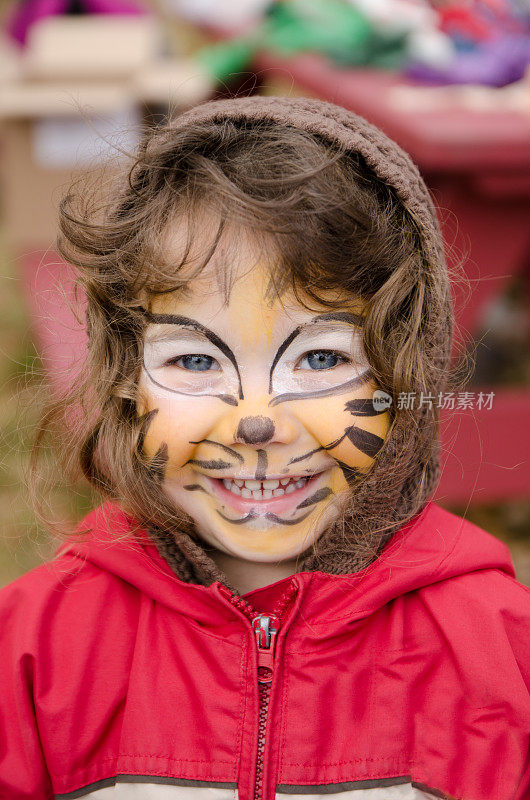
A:
<svg viewBox="0 0 530 800">
<path fill-rule="evenodd" d="M 24 45 L 32 25 L 46 17 L 66 14 L 145 14 L 147 9 L 136 0 L 22 0 L 15 7 L 7 32 Z"/>
</svg>

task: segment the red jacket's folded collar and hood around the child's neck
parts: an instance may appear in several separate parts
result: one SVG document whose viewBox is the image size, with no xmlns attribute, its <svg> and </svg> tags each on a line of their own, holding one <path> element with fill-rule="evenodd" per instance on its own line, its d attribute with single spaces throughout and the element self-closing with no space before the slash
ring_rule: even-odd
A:
<svg viewBox="0 0 530 800">
<path fill-rule="evenodd" d="M 80 536 L 82 531 L 86 533 Z M 202 586 L 177 578 L 146 531 L 111 503 L 89 514 L 58 555 L 90 562 L 199 624 L 234 618 L 218 581 Z M 364 570 L 345 575 L 299 572 L 244 598 L 259 611 L 271 610 L 294 583 L 302 596 L 304 617 L 312 625 L 326 625 L 333 620 L 360 619 L 408 592 L 479 569 L 500 569 L 513 575 L 508 548 L 430 502 L 394 534 Z"/>
</svg>

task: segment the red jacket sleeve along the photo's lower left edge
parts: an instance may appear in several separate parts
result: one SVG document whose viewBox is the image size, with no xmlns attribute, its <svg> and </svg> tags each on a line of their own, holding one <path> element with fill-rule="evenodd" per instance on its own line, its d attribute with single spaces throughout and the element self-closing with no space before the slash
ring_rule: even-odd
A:
<svg viewBox="0 0 530 800">
<path fill-rule="evenodd" d="M 33 702 L 28 576 L 0 591 L 0 798 L 52 800 Z M 33 652 L 32 652 L 33 651 Z"/>
</svg>

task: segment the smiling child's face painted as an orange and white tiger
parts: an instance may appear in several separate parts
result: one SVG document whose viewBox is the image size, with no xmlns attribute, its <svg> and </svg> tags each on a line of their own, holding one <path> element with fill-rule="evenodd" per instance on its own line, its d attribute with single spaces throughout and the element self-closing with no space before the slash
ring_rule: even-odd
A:
<svg viewBox="0 0 530 800">
<path fill-rule="evenodd" d="M 185 292 L 151 304 L 138 410 L 144 452 L 200 536 L 272 563 L 329 527 L 390 420 L 362 352 L 362 303 L 268 299 L 266 266 L 237 246 L 228 297 L 218 248 Z"/>
</svg>

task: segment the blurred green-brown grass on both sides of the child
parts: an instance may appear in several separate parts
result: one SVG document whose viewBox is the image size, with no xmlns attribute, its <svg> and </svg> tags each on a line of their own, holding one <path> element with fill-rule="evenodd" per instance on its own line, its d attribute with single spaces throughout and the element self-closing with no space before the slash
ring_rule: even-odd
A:
<svg viewBox="0 0 530 800">
<path fill-rule="evenodd" d="M 0 586 L 52 556 L 59 543 L 28 499 L 29 454 L 47 388 L 17 266 L 0 241 Z M 91 494 L 86 486 L 59 483 L 49 503 L 65 523 L 73 523 L 91 507 Z M 519 580 L 530 585 L 530 502 L 445 507 L 506 541 Z"/>
</svg>

